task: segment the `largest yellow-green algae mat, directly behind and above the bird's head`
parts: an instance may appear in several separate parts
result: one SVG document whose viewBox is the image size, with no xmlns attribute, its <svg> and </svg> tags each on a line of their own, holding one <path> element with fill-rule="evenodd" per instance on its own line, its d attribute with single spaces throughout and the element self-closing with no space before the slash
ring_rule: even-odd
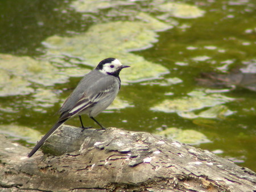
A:
<svg viewBox="0 0 256 192">
<path fill-rule="evenodd" d="M 145 14 L 141 14 L 141 16 L 146 17 Z M 149 18 L 148 15 L 147 18 Z M 44 45 L 46 45 L 49 56 L 79 57 L 90 66 L 96 66 L 102 58 L 117 57 L 124 64 L 133 66 L 122 72 L 122 81 L 146 81 L 159 78 L 161 74 L 168 73 L 168 69 L 129 52 L 152 47 L 152 44 L 158 40 L 158 35 L 154 29 L 160 30 L 167 27 L 164 24 L 161 27 L 160 24 L 154 27 L 154 23 L 155 19 L 151 19 L 147 23 L 110 22 L 95 24 L 85 33 L 72 37 L 48 37 L 44 41 Z M 63 60 L 63 62 L 65 61 Z"/>
</svg>

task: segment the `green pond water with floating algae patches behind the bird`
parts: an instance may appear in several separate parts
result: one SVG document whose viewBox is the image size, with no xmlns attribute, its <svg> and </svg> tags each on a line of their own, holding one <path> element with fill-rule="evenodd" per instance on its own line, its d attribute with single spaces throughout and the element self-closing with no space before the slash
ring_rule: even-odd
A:
<svg viewBox="0 0 256 192">
<path fill-rule="evenodd" d="M 256 170 L 255 4 L 2 0 L 0 132 L 34 145 L 81 77 L 115 57 L 132 67 L 96 118 L 105 127 L 157 133 Z M 234 69 L 242 85 L 226 78 Z M 201 84 L 213 72 L 229 84 Z"/>
</svg>

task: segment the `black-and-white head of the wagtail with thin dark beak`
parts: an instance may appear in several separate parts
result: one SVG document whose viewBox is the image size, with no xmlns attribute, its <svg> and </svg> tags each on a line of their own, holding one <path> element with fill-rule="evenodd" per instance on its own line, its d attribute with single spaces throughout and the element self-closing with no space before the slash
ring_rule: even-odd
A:
<svg viewBox="0 0 256 192">
<path fill-rule="evenodd" d="M 114 58 L 108 58 L 102 60 L 98 66 L 96 67 L 96 70 L 100 71 L 104 74 L 109 74 L 112 76 L 119 76 L 119 73 L 123 68 L 129 68 L 128 65 L 122 65 L 120 61 Z"/>
</svg>

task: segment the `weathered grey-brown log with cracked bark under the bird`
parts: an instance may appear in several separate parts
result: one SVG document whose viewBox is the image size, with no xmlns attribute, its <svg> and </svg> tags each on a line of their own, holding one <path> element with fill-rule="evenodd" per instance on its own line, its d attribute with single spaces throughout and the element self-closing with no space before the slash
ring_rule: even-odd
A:
<svg viewBox="0 0 256 192">
<path fill-rule="evenodd" d="M 47 155 L 29 151 L 0 136 L 0 190 L 256 190 L 250 169 L 146 132 L 62 126 L 43 145 Z"/>
</svg>

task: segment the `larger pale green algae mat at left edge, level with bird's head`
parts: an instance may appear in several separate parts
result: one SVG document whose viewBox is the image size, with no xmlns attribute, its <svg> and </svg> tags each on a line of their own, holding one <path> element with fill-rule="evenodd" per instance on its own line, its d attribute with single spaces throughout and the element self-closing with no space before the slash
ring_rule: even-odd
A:
<svg viewBox="0 0 256 192">
<path fill-rule="evenodd" d="M 31 57 L 0 54 L 0 95 L 24 95 L 34 92 L 31 84 L 52 86 L 67 82 L 67 76 L 47 61 Z"/>
</svg>

